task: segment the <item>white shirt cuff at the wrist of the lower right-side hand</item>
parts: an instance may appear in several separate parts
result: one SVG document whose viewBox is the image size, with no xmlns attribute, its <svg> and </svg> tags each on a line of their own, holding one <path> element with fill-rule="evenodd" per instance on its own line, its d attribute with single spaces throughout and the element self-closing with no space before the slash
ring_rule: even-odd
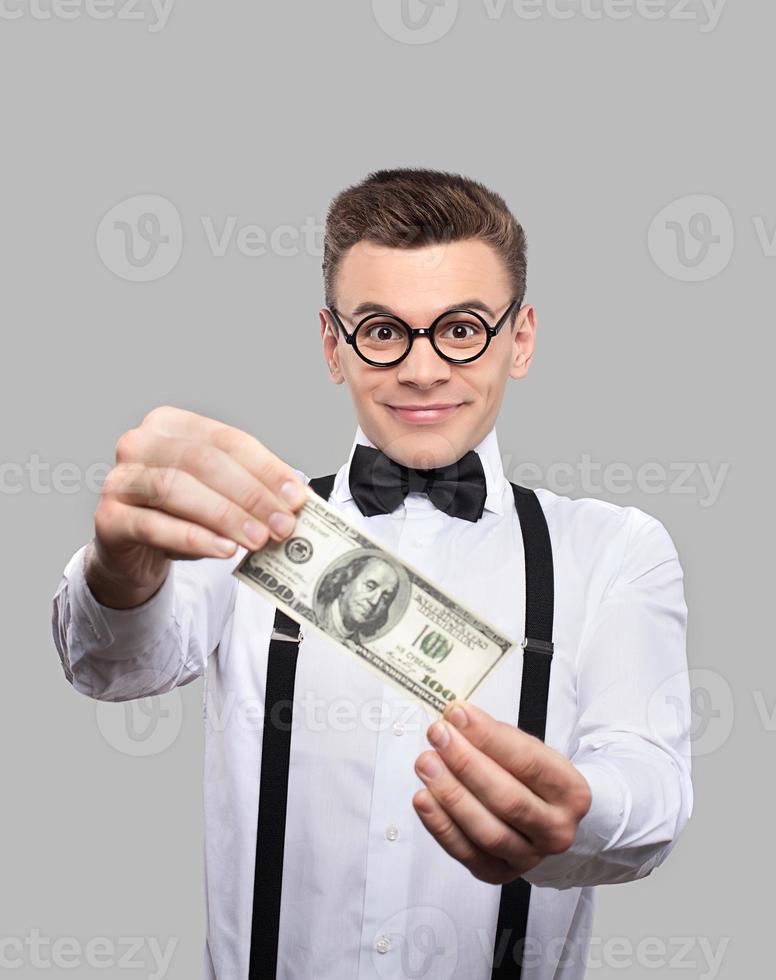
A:
<svg viewBox="0 0 776 980">
<path fill-rule="evenodd" d="M 571 847 L 561 854 L 548 854 L 522 875 L 532 885 L 572 888 L 578 883 L 577 870 L 613 845 L 628 821 L 630 803 L 619 776 L 598 763 L 574 765 L 590 786 L 590 809 L 580 820 Z"/>
</svg>

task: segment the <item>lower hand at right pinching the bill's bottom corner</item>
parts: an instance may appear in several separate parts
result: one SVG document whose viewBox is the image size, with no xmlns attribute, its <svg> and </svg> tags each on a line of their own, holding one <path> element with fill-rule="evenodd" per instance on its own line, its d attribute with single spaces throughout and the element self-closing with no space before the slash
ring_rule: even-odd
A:
<svg viewBox="0 0 776 980">
<path fill-rule="evenodd" d="M 427 788 L 413 806 L 475 878 L 503 885 L 571 847 L 592 796 L 568 759 L 464 701 L 449 704 L 427 735 L 436 751 L 415 763 Z"/>
</svg>

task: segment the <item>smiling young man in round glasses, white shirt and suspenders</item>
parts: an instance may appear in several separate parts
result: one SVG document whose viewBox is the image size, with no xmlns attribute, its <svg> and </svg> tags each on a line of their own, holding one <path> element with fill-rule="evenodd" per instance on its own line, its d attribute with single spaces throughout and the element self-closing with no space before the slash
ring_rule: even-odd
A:
<svg viewBox="0 0 776 980">
<path fill-rule="evenodd" d="M 520 225 L 481 184 L 381 171 L 333 202 L 324 275 L 324 358 L 358 420 L 330 502 L 526 636 L 529 529 L 495 431 L 536 334 Z M 475 703 L 429 726 L 414 699 L 307 635 L 293 705 L 273 700 L 257 721 L 239 707 L 269 704 L 296 647 L 270 643 L 274 608 L 231 572 L 246 549 L 288 538 L 306 481 L 246 433 L 155 409 L 120 438 L 94 539 L 55 596 L 78 691 L 125 700 L 205 676 L 219 719 L 206 722 L 206 976 L 582 977 L 594 886 L 649 874 L 692 809 L 671 538 L 635 507 L 536 491 L 554 570 L 544 741 L 515 724 L 520 648 Z M 357 641 L 396 575 L 355 566 L 321 617 Z"/>
</svg>

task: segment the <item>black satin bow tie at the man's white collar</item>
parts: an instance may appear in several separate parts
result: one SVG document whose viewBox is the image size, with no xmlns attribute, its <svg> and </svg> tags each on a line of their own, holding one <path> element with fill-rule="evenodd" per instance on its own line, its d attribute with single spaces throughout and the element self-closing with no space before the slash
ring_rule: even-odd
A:
<svg viewBox="0 0 776 980">
<path fill-rule="evenodd" d="M 431 502 L 451 517 L 478 521 L 485 507 L 485 471 L 470 449 L 455 463 L 430 470 L 404 466 L 371 446 L 356 445 L 348 476 L 350 492 L 367 517 L 390 514 L 408 493 L 427 493 Z"/>
</svg>

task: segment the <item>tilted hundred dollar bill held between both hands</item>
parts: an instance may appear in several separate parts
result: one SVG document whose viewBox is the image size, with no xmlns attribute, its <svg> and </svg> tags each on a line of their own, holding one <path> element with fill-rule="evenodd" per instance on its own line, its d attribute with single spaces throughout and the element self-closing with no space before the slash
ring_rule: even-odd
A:
<svg viewBox="0 0 776 980">
<path fill-rule="evenodd" d="M 233 574 L 437 711 L 470 698 L 515 641 L 307 492 L 291 537 Z"/>
</svg>

